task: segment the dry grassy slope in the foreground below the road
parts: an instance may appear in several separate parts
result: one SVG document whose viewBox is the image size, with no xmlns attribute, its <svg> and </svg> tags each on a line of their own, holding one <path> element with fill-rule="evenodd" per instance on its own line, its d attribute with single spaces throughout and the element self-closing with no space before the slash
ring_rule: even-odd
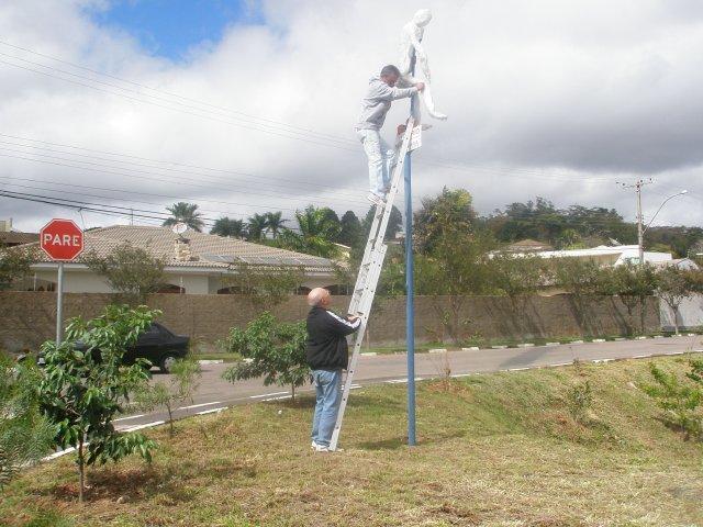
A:
<svg viewBox="0 0 703 527">
<path fill-rule="evenodd" d="M 681 359 L 657 361 L 682 369 Z M 584 379 L 595 399 L 588 426 L 565 404 Z M 310 399 L 239 406 L 181 422 L 174 439 L 152 431 L 161 445 L 153 466 L 92 471 L 85 507 L 70 459 L 33 469 L 7 490 L 0 523 L 703 525 L 703 447 L 655 418 L 635 388 L 646 379 L 647 362 L 628 361 L 423 382 L 412 449 L 404 386 L 365 389 L 335 455 L 308 449 Z"/>
</svg>

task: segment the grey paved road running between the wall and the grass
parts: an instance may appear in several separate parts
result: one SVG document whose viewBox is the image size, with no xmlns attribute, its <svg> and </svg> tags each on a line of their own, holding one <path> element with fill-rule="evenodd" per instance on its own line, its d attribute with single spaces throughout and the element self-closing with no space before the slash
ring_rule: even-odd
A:
<svg viewBox="0 0 703 527">
<path fill-rule="evenodd" d="M 477 372 L 522 370 L 546 366 L 566 366 L 574 359 L 600 361 L 624 358 L 645 358 L 657 355 L 679 355 L 687 351 L 703 351 L 702 336 L 676 338 L 649 338 L 607 343 L 566 344 L 560 346 L 536 346 L 531 348 L 480 349 L 448 351 L 446 354 L 417 354 L 415 375 L 417 379 L 439 377 L 448 363 L 454 377 Z M 260 380 L 230 383 L 221 379 L 228 365 L 205 365 L 200 386 L 191 404 L 175 412 L 175 417 L 221 411 L 233 404 L 288 399 L 289 392 L 279 386 L 264 386 Z M 406 382 L 405 355 L 361 356 L 355 377 L 360 385 Z M 155 380 L 164 379 L 155 373 Z M 310 391 L 310 386 L 301 389 Z M 135 415 L 119 419 L 120 429 L 136 429 L 164 421 L 165 413 Z"/>
</svg>

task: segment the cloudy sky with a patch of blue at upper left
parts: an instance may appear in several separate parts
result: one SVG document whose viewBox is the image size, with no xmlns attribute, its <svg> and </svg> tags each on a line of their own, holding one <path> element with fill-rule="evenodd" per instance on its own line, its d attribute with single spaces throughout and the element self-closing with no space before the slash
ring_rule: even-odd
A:
<svg viewBox="0 0 703 527">
<path fill-rule="evenodd" d="M 368 209 L 353 126 L 416 8 L 435 122 L 415 201 L 462 187 L 479 212 L 545 197 L 703 225 L 700 0 L 23 0 L 0 2 L 0 189 L 209 218 L 309 203 Z M 58 59 L 58 60 L 57 60 Z M 100 75 L 104 74 L 104 75 Z M 390 137 L 408 103 L 394 103 Z M 130 157 L 132 156 L 132 157 Z M 0 198 L 33 231 L 127 217 Z"/>
</svg>

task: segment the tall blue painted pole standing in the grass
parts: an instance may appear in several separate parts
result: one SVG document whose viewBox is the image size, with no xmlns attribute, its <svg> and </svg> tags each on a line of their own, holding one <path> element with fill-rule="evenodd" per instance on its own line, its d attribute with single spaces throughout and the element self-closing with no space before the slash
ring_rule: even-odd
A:
<svg viewBox="0 0 703 527">
<path fill-rule="evenodd" d="M 413 60 L 412 75 L 415 74 Z M 410 100 L 411 115 L 416 115 L 417 96 Z M 413 260 L 413 193 L 411 153 L 405 154 L 403 167 L 405 181 L 405 341 L 408 344 L 408 445 L 414 447 L 415 438 L 415 283 Z"/>
</svg>

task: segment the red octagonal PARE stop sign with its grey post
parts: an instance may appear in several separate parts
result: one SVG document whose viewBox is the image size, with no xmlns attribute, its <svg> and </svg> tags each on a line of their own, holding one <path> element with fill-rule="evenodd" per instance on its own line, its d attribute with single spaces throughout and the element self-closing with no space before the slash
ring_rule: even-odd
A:
<svg viewBox="0 0 703 527">
<path fill-rule="evenodd" d="M 83 232 L 71 220 L 52 220 L 40 231 L 40 247 L 57 262 L 56 279 L 56 345 L 64 336 L 64 262 L 72 261 L 83 251 Z"/>
</svg>

